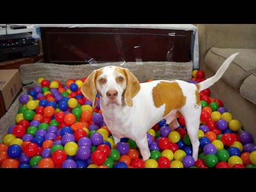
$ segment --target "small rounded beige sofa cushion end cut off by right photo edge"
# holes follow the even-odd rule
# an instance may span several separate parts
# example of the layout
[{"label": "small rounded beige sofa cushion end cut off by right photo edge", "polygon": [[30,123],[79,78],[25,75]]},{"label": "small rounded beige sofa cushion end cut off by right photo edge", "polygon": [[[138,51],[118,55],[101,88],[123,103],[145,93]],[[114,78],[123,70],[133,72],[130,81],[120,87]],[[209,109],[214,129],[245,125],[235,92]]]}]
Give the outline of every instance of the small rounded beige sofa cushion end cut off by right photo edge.
[{"label": "small rounded beige sofa cushion end cut off by right photo edge", "polygon": [[256,105],[256,73],[247,77],[240,87],[240,94]]}]

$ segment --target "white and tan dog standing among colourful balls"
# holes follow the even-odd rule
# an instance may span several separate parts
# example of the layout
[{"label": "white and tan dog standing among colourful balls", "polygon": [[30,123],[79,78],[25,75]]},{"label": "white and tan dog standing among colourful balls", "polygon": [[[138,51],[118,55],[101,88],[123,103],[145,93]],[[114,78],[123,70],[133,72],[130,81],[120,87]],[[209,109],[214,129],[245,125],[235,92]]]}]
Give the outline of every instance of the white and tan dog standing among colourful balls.
[{"label": "white and tan dog standing among colourful balls", "polygon": [[162,119],[175,129],[179,126],[177,117],[183,115],[196,161],[201,115],[199,92],[217,82],[237,54],[230,55],[214,76],[196,85],[180,80],[139,83],[129,69],[107,66],[93,70],[81,92],[92,101],[93,108],[97,106],[95,95],[99,93],[102,116],[115,144],[121,138],[134,140],[143,161],[150,157],[147,131]]}]

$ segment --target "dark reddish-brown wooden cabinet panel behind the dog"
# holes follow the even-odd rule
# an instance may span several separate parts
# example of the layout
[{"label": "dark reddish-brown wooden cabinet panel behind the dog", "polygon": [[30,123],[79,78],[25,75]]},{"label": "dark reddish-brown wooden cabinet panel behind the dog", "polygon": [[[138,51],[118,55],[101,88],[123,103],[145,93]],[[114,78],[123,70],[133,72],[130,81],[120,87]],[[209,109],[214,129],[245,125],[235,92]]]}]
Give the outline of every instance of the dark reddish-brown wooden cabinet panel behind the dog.
[{"label": "dark reddish-brown wooden cabinet panel behind the dog", "polygon": [[41,28],[44,62],[190,61],[190,30]]}]

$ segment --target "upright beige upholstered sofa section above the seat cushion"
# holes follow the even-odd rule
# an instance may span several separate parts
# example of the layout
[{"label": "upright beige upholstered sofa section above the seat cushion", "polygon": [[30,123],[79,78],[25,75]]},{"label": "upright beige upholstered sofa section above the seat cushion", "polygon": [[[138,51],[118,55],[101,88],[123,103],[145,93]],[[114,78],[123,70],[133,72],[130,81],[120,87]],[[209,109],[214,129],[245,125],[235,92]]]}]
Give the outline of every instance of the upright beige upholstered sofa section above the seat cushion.
[{"label": "upright beige upholstered sofa section above the seat cushion", "polygon": [[206,53],[213,46],[218,48],[256,48],[255,24],[198,24],[200,68]]}]

